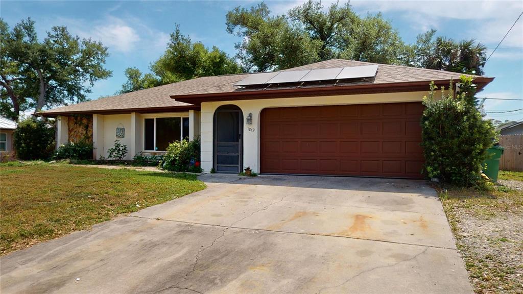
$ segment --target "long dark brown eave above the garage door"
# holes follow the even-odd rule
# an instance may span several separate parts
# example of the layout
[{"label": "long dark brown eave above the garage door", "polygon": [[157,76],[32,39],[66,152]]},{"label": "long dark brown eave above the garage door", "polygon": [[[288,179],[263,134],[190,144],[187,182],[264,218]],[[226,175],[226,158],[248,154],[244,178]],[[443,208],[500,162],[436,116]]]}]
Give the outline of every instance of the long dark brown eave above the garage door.
[{"label": "long dark brown eave above the garage door", "polygon": [[[477,92],[481,91],[488,83],[494,80],[493,77],[476,77],[474,83],[477,85]],[[448,86],[448,80],[434,81],[436,86]],[[457,83],[457,80],[453,80]],[[356,95],[356,94],[376,94],[376,93],[399,93],[413,91],[428,91],[431,81],[416,81],[404,83],[383,83],[365,84],[350,86],[328,86],[314,88],[292,88],[292,89],[269,89],[259,91],[238,91],[209,94],[188,94],[171,95],[170,98],[176,101],[200,105],[202,102],[229,101],[229,100],[250,100],[250,99],[269,99],[269,98],[292,98],[310,96],[333,96],[333,95]]]}]

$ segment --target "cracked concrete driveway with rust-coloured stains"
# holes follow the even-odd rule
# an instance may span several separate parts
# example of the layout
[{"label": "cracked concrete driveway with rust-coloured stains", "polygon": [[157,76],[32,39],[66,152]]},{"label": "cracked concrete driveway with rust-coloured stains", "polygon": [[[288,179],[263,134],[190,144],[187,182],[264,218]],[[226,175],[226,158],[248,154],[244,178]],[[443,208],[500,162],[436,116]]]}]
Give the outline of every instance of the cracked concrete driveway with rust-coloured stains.
[{"label": "cracked concrete driveway with rust-coloured stains", "polygon": [[198,193],[2,257],[1,292],[472,292],[422,180],[201,179]]}]

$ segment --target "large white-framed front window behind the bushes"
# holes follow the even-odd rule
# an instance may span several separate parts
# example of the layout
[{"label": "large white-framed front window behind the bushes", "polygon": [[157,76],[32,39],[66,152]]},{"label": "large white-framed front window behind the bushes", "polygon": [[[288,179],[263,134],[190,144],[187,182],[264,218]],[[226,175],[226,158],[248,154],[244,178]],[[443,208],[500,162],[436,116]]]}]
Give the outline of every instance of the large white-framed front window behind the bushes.
[{"label": "large white-framed front window behind the bushes", "polygon": [[165,151],[169,143],[189,137],[188,117],[145,119],[144,149]]}]

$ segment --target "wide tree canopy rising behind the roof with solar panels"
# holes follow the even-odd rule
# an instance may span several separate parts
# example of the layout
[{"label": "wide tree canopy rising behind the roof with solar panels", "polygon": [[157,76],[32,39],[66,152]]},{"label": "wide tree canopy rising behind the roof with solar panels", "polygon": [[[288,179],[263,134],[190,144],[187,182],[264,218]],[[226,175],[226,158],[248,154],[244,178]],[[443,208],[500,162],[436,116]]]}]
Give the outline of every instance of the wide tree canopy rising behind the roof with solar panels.
[{"label": "wide tree canopy rising behind the roof with solar panels", "polygon": [[430,30],[406,44],[381,14],[357,15],[349,3],[319,1],[271,15],[261,2],[238,6],[226,15],[227,31],[242,38],[236,57],[246,72],[283,70],[312,62],[343,58],[483,74],[486,47],[474,40],[454,41]]}]

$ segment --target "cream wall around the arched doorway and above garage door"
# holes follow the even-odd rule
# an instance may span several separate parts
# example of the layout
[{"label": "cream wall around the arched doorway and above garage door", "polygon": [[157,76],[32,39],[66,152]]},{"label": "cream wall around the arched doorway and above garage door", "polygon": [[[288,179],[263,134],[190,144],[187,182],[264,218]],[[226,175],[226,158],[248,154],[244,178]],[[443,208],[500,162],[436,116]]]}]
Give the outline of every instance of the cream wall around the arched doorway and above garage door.
[{"label": "cream wall around the arched doorway and above garage door", "polygon": [[[213,167],[213,115],[214,111],[227,104],[240,107],[243,111],[243,165],[259,172],[259,115],[261,110],[268,107],[317,106],[317,105],[346,105],[370,103],[401,103],[422,101],[428,92],[383,93],[362,95],[340,95],[322,97],[276,98],[205,102],[201,104],[201,167],[210,172]],[[440,94],[436,94],[438,97]],[[253,114],[252,125],[245,124],[245,118]],[[247,131],[250,128],[250,131]]]}]

